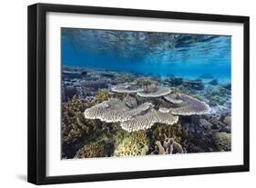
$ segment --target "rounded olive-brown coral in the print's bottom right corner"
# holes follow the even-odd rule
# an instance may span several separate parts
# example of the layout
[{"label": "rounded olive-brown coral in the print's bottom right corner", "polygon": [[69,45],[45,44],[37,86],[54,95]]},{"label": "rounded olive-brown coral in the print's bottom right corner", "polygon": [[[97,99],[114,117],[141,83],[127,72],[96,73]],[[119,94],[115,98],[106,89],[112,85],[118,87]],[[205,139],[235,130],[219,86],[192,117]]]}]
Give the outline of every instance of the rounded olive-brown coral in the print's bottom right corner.
[{"label": "rounded olive-brown coral in the print's bottom right corner", "polygon": [[213,134],[213,139],[219,151],[231,151],[231,134],[218,132]]}]

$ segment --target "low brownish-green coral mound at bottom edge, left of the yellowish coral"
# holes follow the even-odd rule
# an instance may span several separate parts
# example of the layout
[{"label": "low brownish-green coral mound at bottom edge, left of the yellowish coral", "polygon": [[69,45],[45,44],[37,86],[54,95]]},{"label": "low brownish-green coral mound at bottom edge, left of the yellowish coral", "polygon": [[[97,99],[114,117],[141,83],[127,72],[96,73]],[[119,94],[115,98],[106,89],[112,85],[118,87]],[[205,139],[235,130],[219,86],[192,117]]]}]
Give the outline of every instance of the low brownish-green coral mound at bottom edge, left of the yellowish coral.
[{"label": "low brownish-green coral mound at bottom edge, left of the yellowish coral", "polygon": [[107,157],[108,147],[104,142],[90,143],[80,148],[74,158]]}]

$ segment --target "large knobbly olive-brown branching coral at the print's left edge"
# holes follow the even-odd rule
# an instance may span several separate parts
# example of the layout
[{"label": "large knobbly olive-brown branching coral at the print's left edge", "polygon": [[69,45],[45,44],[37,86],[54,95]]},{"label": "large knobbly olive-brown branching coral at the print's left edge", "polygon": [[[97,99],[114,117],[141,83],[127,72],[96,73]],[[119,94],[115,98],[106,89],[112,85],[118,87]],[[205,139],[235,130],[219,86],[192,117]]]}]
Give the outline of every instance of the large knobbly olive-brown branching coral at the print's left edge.
[{"label": "large knobbly olive-brown branching coral at the print's left edge", "polygon": [[95,129],[95,122],[85,119],[85,109],[85,104],[77,95],[74,95],[71,101],[62,104],[62,143],[73,143],[84,133]]}]

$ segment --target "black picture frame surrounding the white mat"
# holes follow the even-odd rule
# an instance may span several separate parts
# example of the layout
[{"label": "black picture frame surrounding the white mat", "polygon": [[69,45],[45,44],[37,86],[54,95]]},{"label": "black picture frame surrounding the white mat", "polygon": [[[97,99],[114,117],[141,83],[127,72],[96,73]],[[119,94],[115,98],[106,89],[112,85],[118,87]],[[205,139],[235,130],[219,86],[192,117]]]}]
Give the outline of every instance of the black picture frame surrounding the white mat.
[{"label": "black picture frame surrounding the white mat", "polygon": [[[174,170],[126,173],[97,173],[67,176],[46,176],[46,13],[121,15],[177,20],[199,20],[243,24],[243,164]],[[250,18],[237,15],[207,15],[153,10],[94,7],[81,5],[36,4],[28,6],[28,158],[27,181],[35,184],[80,183],[93,181],[151,178],[204,173],[247,172],[250,169],[249,137],[249,29]]]}]

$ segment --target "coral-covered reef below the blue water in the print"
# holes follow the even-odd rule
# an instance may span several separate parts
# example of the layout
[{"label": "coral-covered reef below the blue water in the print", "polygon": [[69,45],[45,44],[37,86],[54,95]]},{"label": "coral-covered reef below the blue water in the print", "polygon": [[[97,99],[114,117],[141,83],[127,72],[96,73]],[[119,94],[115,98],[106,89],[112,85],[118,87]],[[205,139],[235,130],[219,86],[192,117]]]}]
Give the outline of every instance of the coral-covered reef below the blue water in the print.
[{"label": "coral-covered reef below the blue water in the print", "polygon": [[230,82],[63,66],[61,92],[62,159],[231,150]]}]

